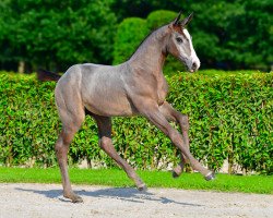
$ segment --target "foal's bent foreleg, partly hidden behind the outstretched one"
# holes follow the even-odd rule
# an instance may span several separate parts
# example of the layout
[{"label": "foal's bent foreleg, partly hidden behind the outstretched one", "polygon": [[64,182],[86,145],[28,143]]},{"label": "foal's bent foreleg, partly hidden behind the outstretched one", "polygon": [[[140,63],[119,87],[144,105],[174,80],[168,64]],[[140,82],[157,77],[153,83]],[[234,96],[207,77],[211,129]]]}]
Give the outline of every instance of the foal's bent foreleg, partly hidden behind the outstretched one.
[{"label": "foal's bent foreleg, partly hidden behind the outstretched one", "polygon": [[[174,109],[171,105],[169,105],[167,101],[165,101],[162,106],[159,106],[159,111],[164,114],[164,117],[168,121],[175,121],[180,125],[181,132],[182,132],[182,140],[185,147],[190,149],[190,143],[189,143],[189,118],[188,116],[185,116]],[[183,167],[187,164],[187,157],[183,154],[180,154],[181,161],[178,164],[176,168],[173,170],[173,177],[177,178],[179,177],[182,171]]]}]

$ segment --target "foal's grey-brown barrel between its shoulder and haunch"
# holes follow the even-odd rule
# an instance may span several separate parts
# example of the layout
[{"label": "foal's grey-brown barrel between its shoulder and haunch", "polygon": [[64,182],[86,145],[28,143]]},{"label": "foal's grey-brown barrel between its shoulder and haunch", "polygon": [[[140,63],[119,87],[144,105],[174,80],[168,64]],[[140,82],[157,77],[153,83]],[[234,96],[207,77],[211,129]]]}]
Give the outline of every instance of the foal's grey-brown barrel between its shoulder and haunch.
[{"label": "foal's grey-brown barrel between its shoulder and haunch", "polygon": [[121,74],[100,68],[83,74],[81,93],[87,110],[93,113],[111,116],[133,116]]}]

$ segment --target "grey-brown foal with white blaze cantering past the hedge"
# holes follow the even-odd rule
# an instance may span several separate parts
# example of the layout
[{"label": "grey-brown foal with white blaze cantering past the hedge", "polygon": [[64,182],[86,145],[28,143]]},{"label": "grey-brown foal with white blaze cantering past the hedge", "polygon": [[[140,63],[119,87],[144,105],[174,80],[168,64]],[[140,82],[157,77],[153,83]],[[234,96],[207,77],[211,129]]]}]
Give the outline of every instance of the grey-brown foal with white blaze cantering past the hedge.
[{"label": "grey-brown foal with white blaze cantering past the hedge", "polygon": [[[145,184],[114,148],[111,117],[143,116],[162,130],[181,152],[181,162],[174,169],[174,177],[179,177],[185,162],[189,160],[192,168],[206,180],[214,178],[213,172],[202,167],[189,150],[188,117],[165,100],[168,85],[163,75],[163,65],[168,53],[183,62],[190,72],[195,72],[200,66],[191,36],[186,29],[192,14],[182,21],[180,15],[154,31],[124,63],[115,66],[76,64],[58,81],[55,94],[62,130],[56,143],[56,153],[63,196],[73,203],[82,202],[82,198],[70,184],[68,150],[85,114],[97,122],[99,146],[123,168],[140,191],[146,189]],[[168,121],[176,121],[180,125],[182,136]]]}]

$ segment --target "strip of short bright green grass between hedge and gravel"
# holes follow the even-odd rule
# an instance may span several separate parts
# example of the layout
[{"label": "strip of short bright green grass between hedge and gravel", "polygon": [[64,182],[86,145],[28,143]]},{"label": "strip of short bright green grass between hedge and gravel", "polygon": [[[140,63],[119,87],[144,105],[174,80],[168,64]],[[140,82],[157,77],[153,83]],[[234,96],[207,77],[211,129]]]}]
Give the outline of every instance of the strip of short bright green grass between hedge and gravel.
[{"label": "strip of short bright green grass between hedge and gravel", "polygon": [[[183,190],[210,190],[221,192],[244,192],[273,194],[273,175],[216,174],[216,180],[206,182],[200,173],[183,173],[173,179],[170,172],[138,171],[149,187],[173,187]],[[119,169],[70,169],[73,184],[134,186]],[[2,183],[60,183],[59,169],[4,168],[0,167]]]}]

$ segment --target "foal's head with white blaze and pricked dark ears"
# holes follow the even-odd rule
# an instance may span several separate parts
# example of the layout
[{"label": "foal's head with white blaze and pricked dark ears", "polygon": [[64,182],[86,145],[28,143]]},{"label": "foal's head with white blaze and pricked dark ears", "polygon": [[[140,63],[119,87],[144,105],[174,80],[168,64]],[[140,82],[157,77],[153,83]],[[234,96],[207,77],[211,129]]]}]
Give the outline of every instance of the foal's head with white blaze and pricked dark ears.
[{"label": "foal's head with white blaze and pricked dark ears", "polygon": [[187,24],[192,19],[192,14],[182,21],[179,21],[180,16],[181,12],[178,14],[177,19],[168,25],[170,37],[167,45],[167,51],[182,61],[188,70],[193,73],[200,68],[200,60],[193,49],[192,38],[186,29]]}]

